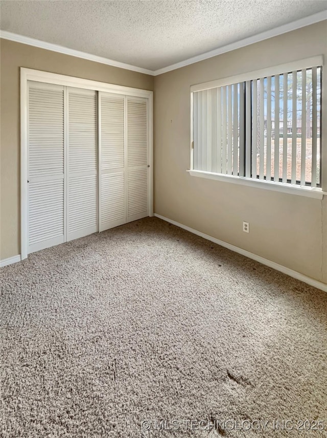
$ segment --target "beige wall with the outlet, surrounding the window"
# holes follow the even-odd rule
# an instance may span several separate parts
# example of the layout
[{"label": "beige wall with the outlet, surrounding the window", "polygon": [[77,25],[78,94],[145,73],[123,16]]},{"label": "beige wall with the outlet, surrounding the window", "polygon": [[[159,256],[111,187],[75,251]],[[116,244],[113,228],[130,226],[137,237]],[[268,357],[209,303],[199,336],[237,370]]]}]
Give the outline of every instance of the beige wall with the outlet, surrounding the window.
[{"label": "beige wall with the outlet, surrounding the window", "polygon": [[[327,283],[327,196],[323,201],[191,177],[190,85],[292,60],[327,57],[326,23],[308,26],[155,77],[157,214]],[[323,120],[327,115],[323,75]],[[327,190],[327,123],[323,123]],[[242,221],[250,232],[242,231]]]}]

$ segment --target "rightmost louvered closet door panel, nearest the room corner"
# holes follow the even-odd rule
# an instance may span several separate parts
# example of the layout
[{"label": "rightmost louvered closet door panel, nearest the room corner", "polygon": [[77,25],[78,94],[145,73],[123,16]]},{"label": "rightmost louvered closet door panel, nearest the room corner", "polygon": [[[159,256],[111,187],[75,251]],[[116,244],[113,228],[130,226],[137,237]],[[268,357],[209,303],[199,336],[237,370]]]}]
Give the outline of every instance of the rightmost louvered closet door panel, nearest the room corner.
[{"label": "rightmost louvered closet door panel, nearest the room corner", "polygon": [[148,99],[127,97],[127,222],[149,215]]}]

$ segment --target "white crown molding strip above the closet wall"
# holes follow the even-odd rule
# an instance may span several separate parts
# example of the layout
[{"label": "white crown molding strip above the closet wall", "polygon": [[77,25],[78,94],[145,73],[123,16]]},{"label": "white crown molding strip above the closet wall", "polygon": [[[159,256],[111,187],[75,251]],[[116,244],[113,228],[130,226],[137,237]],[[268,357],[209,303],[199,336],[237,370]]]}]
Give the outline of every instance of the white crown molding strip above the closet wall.
[{"label": "white crown molding strip above the closet wall", "polygon": [[63,53],[64,55],[76,56],[77,58],[87,59],[88,61],[100,62],[101,64],[111,65],[111,67],[118,67],[119,69],[131,70],[133,72],[144,73],[153,76],[153,71],[136,67],[136,65],[125,64],[124,62],[114,61],[113,59],[103,58],[102,56],[92,55],[90,53],[80,52],[79,50],[69,49],[68,47],[59,46],[51,42],[41,41],[39,39],[30,38],[24,35],[7,32],[2,30],[0,37],[9,39],[10,41],[21,42],[28,46],[38,47],[40,49],[51,50],[52,52]]}]

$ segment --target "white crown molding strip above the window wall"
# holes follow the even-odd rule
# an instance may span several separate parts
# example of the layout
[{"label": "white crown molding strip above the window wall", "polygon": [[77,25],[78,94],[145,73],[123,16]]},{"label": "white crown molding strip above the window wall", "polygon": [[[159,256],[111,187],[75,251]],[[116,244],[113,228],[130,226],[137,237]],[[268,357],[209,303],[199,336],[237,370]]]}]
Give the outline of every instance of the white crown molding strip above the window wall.
[{"label": "white crown molding strip above the window wall", "polygon": [[217,49],[211,50],[210,52],[202,53],[198,56],[193,56],[192,58],[185,59],[184,61],[177,62],[176,64],[168,65],[159,70],[153,72],[154,76],[161,75],[162,73],[167,73],[172,70],[180,69],[185,67],[185,65],[194,64],[195,62],[203,61],[204,59],[212,58],[222,53],[230,52],[232,50],[240,49],[241,47],[249,46],[255,42],[260,42],[273,36],[282,35],[283,33],[291,32],[292,30],[299,29],[301,27],[310,26],[318,21],[323,21],[327,19],[327,11],[318,12],[316,14],[310,15],[305,18],[300,18],[299,20],[292,21],[283,26],[278,26],[274,29],[267,30],[265,32],[258,33],[256,35],[250,36],[248,38],[240,39],[239,41],[232,42],[226,46],[219,47]]}]

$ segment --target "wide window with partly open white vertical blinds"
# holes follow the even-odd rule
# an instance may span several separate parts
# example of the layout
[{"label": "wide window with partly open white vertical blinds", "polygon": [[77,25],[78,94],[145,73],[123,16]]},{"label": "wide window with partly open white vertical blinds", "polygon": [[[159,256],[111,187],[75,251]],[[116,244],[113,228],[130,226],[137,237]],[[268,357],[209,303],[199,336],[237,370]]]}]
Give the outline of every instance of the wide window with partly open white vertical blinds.
[{"label": "wide window with partly open white vertical blinds", "polygon": [[193,171],[321,187],[322,57],[193,85]]}]

